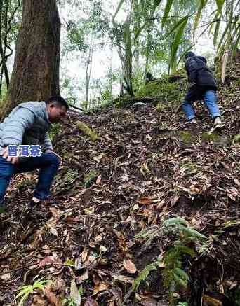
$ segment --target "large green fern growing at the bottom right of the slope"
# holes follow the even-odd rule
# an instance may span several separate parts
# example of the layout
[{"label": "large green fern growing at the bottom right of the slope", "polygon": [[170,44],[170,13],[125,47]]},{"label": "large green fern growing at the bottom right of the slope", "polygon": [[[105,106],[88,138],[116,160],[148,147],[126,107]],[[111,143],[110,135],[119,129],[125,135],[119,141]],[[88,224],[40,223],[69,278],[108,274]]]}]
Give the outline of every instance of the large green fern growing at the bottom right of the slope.
[{"label": "large green fern growing at the bottom right of the slope", "polygon": [[[195,244],[203,245],[206,243],[207,237],[202,235],[194,228],[189,226],[189,223],[183,218],[170,218],[164,221],[163,225],[154,225],[150,228],[142,230],[136,238],[142,238],[147,240],[144,246],[149,246],[155,237],[161,237],[164,235],[173,235],[175,242],[173,246],[166,251],[163,263],[164,263],[164,286],[169,292],[169,301],[171,305],[174,305],[175,301],[173,293],[180,290],[180,288],[187,288],[189,282],[189,276],[182,268],[182,259],[184,256],[194,257],[196,253],[194,251]],[[149,272],[155,270],[159,266],[159,261],[147,265],[142,272],[140,272],[137,279],[135,279],[131,292],[138,290],[140,282],[145,280],[149,275]],[[187,304],[179,304],[187,305]]]}]

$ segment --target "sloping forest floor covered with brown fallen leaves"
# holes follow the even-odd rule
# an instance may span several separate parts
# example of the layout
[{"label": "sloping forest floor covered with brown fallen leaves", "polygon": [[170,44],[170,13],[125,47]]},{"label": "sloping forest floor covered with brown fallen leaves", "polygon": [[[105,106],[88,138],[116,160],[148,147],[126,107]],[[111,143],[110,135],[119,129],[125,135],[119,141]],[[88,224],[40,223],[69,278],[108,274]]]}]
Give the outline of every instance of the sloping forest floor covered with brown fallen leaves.
[{"label": "sloping forest floor covered with brown fallen leaves", "polygon": [[[58,306],[70,295],[76,304],[66,305],[80,305],[75,284],[81,305],[121,305],[140,271],[173,243],[159,235],[142,247],[136,235],[173,216],[209,239],[206,256],[185,267],[191,281],[180,300],[204,305],[193,298],[200,290],[212,298],[205,305],[240,305],[239,62],[218,93],[221,134],[208,135],[212,123],[201,103],[197,127],[185,125],[171,103],[161,111],[146,104],[89,116],[69,112],[55,135],[62,165],[51,199],[25,208],[36,173],[15,176],[8,190],[8,213],[0,216],[0,305],[18,305],[18,288],[39,278],[53,282],[25,305]],[[79,131],[79,120],[98,141]],[[124,305],[168,305],[162,270],[151,272]]]}]

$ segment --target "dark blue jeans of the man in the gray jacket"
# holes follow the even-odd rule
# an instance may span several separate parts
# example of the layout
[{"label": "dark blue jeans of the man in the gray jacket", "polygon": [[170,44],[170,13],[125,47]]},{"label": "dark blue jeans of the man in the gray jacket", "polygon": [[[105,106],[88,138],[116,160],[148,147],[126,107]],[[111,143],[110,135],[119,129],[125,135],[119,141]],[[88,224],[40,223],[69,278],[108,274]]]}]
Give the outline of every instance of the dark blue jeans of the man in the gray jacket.
[{"label": "dark blue jeans of the man in the gray jacket", "polygon": [[39,171],[39,181],[34,190],[34,197],[44,200],[50,193],[55,174],[58,172],[60,159],[53,153],[42,153],[41,156],[29,158],[26,162],[11,164],[0,156],[0,203],[4,200],[11,177],[16,173]]}]

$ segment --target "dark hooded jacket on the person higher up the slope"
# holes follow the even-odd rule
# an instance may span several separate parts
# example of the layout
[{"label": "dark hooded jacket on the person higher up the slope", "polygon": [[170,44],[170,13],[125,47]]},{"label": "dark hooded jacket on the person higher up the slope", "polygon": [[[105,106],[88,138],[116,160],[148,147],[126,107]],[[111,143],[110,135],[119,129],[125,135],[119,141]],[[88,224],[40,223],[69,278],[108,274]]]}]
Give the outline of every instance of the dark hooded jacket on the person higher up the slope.
[{"label": "dark hooded jacket on the person higher up the slope", "polygon": [[190,83],[196,83],[198,86],[207,86],[217,89],[217,83],[213,76],[213,71],[206,65],[207,61],[202,56],[187,57],[185,69],[187,70]]}]

